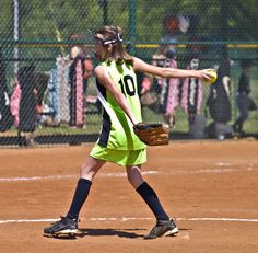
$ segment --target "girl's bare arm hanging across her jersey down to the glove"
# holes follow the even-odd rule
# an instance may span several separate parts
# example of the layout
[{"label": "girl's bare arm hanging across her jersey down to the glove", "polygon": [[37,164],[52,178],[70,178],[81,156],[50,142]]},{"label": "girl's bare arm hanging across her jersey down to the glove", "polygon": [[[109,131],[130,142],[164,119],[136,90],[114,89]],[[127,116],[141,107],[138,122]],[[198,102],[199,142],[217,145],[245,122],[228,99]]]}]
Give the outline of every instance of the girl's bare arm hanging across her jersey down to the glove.
[{"label": "girl's bare arm hanging across her jersey down to the glove", "polygon": [[139,122],[132,115],[131,108],[130,108],[125,95],[113,83],[113,80],[109,77],[106,69],[102,66],[97,66],[94,70],[94,72],[95,72],[98,81],[114,95],[116,102],[122,108],[122,111],[126,113],[126,115],[130,118],[132,125],[137,125]]}]

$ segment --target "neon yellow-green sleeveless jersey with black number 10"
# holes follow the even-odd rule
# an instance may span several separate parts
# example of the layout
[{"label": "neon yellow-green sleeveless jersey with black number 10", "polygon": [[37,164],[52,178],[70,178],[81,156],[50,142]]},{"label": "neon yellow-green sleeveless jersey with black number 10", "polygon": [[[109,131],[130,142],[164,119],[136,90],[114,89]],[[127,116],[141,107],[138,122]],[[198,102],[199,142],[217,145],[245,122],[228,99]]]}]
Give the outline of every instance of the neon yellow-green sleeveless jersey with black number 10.
[{"label": "neon yellow-green sleeveless jersey with black number 10", "polygon": [[[114,85],[126,96],[132,114],[138,122],[142,122],[141,104],[138,95],[137,77],[131,65],[102,62],[109,73]],[[132,123],[117,104],[114,96],[98,80],[97,96],[103,105],[103,126],[97,143],[108,149],[139,150],[146,146],[133,133]]]}]

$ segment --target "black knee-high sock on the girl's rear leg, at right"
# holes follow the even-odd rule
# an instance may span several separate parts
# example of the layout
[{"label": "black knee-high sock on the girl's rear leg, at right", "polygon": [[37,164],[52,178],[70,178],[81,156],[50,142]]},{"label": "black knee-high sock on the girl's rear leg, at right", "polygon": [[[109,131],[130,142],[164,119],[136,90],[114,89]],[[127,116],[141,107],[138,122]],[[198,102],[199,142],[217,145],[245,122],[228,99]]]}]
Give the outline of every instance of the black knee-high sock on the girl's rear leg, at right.
[{"label": "black knee-high sock on the girl's rear leg, at right", "polygon": [[141,195],[143,200],[151,208],[152,212],[154,214],[157,220],[169,220],[169,217],[163,209],[155,192],[146,182],[142,183],[137,188],[137,192]]}]

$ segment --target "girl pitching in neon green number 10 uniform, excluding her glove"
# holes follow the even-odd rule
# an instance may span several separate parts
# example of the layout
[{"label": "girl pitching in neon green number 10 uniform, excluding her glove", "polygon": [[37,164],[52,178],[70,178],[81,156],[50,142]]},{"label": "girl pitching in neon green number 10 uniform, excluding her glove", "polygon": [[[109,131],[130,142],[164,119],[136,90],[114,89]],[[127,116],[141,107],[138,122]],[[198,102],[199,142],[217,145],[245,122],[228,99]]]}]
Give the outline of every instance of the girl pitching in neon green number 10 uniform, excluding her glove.
[{"label": "girl pitching in neon green number 10 uniform, excluding her glove", "polygon": [[146,147],[133,133],[133,125],[142,122],[136,71],[162,78],[211,79],[208,70],[161,68],[126,53],[122,31],[104,26],[94,33],[99,65],[95,67],[97,95],[103,105],[99,138],[81,168],[70,209],[66,217],[45,228],[46,234],[75,233],[79,212],[85,203],[92,181],[106,162],[126,166],[128,181],[150,207],[156,223],[144,239],[173,235],[178,232],[153,188],[143,180],[141,164],[146,162]]}]

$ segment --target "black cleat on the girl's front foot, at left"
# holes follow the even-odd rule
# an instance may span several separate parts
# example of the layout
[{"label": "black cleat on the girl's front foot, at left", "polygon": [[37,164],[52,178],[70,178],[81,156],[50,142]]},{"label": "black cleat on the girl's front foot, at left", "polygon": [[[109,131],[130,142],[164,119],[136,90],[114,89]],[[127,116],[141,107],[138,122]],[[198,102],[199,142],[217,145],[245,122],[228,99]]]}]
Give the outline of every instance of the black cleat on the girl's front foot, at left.
[{"label": "black cleat on the girl's front foot, at left", "polygon": [[48,235],[75,234],[78,232],[78,220],[61,217],[51,227],[45,228],[44,233]]}]

